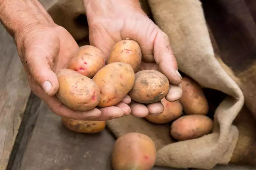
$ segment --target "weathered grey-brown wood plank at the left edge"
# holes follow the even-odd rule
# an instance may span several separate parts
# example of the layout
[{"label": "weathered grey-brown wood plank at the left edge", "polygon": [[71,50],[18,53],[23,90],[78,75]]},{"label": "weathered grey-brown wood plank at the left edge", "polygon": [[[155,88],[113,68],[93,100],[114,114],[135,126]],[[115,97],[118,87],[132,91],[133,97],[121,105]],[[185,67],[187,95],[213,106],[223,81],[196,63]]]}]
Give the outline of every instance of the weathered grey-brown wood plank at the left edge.
[{"label": "weathered grey-brown wood plank at the left edge", "polygon": [[30,88],[15,43],[2,25],[0,82],[0,170],[4,170],[19,130]]}]

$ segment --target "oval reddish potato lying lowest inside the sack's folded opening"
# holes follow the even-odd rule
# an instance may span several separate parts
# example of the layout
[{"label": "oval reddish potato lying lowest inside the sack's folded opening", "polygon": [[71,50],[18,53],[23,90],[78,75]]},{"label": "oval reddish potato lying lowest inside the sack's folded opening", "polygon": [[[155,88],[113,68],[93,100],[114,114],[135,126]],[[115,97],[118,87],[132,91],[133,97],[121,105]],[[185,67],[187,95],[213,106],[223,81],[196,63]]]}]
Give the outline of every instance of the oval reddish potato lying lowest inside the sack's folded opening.
[{"label": "oval reddish potato lying lowest inside the sack's folded opening", "polygon": [[171,136],[179,141],[199,138],[209,134],[213,121],[204,115],[186,115],[175,120],[171,126]]}]

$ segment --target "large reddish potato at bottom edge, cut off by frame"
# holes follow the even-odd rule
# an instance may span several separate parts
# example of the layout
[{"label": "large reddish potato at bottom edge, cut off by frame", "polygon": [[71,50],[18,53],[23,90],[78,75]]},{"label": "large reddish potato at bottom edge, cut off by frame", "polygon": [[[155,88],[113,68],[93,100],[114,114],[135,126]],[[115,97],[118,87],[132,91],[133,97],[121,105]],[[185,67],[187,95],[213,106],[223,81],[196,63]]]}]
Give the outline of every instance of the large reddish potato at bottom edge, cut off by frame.
[{"label": "large reddish potato at bottom edge, cut off by frame", "polygon": [[155,144],[145,134],[127,133],[116,140],[112,152],[114,170],[150,170],[155,160]]}]

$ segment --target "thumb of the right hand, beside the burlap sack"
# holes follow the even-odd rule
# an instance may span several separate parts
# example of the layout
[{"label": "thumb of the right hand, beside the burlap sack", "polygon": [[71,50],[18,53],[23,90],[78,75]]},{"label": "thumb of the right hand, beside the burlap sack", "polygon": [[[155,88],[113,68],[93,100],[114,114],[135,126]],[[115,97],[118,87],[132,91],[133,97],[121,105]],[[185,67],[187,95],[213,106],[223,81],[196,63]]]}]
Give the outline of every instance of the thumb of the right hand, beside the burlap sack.
[{"label": "thumb of the right hand, beside the burlap sack", "polygon": [[163,31],[159,30],[154,41],[154,59],[159,70],[168,78],[169,82],[178,85],[182,81],[178,71],[170,40]]}]

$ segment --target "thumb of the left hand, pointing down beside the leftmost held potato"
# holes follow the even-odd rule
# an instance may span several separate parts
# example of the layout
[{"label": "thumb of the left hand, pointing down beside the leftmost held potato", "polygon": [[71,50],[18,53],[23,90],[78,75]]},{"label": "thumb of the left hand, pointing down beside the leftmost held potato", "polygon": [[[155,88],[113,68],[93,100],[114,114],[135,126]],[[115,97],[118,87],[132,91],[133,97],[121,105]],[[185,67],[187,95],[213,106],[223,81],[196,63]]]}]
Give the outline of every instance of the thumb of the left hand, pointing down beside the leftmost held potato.
[{"label": "thumb of the left hand, pointing down beside the leftmost held potato", "polygon": [[48,54],[42,56],[42,54],[38,54],[37,50],[32,50],[26,56],[26,67],[31,77],[49,96],[55,95],[59,88],[58,78],[49,65],[52,64],[51,59],[49,59],[52,58],[49,57],[52,55],[54,54],[48,51]]}]

